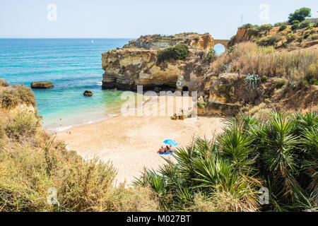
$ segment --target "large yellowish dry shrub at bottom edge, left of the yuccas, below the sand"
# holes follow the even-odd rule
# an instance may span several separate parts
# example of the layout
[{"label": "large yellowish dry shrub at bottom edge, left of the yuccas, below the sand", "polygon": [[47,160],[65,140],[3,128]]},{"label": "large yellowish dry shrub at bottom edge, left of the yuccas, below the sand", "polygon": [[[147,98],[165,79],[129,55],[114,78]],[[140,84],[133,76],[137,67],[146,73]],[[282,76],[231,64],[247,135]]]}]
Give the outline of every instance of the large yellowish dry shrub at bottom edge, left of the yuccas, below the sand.
[{"label": "large yellowish dry shrub at bottom edge, left of the yuccas, below the sand", "polygon": [[[57,156],[58,157],[58,156]],[[53,159],[54,160],[54,159]],[[116,170],[110,162],[98,159],[84,161],[77,155],[71,156],[68,164],[47,160],[49,174],[55,174],[54,181],[62,210],[66,211],[112,211],[112,182]],[[54,161],[53,161],[54,162]],[[63,170],[61,170],[63,169]]]}]

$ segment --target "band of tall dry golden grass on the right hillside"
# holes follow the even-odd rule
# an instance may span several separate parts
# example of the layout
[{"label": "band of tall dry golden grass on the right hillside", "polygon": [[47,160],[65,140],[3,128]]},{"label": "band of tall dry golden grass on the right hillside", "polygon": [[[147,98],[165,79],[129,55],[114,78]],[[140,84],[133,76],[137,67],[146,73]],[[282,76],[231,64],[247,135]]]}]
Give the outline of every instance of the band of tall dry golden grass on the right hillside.
[{"label": "band of tall dry golden grass on the right hillside", "polygon": [[226,64],[228,72],[255,73],[290,81],[303,81],[309,74],[312,78],[318,78],[318,54],[313,49],[278,52],[273,47],[243,42],[237,44],[232,52],[218,57],[211,65],[212,72],[222,73]]}]

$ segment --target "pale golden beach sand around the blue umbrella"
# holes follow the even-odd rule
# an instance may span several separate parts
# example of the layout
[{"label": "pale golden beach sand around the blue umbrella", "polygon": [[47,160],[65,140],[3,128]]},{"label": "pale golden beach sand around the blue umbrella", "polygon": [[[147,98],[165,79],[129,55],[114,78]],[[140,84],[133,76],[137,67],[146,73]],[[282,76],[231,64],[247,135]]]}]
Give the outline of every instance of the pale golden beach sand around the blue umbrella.
[{"label": "pale golden beach sand around the blue umbrella", "polygon": [[[161,98],[161,97],[160,97]],[[165,107],[173,107],[167,104]],[[150,107],[136,110],[136,113]],[[160,109],[160,107],[158,107]],[[182,147],[192,143],[194,137],[212,138],[222,130],[224,117],[198,117],[172,120],[170,116],[127,116],[121,114],[94,124],[78,126],[57,133],[69,150],[76,150],[85,158],[99,157],[112,161],[118,170],[117,183],[131,184],[143,168],[158,169],[165,163],[157,151],[163,141],[172,139]]]}]

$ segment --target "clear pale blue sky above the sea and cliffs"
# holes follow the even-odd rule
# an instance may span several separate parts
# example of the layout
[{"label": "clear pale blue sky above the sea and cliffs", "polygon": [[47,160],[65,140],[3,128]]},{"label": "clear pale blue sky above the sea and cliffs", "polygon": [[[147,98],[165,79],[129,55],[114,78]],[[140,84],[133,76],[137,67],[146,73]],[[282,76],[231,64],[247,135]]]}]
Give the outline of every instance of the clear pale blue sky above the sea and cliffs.
[{"label": "clear pale blue sky above the sea and cliffs", "polygon": [[[49,21],[47,6],[57,6]],[[259,6],[269,6],[261,20]],[[1,0],[0,37],[139,37],[179,32],[209,32],[229,39],[243,23],[285,21],[301,7],[318,17],[317,0]]]}]

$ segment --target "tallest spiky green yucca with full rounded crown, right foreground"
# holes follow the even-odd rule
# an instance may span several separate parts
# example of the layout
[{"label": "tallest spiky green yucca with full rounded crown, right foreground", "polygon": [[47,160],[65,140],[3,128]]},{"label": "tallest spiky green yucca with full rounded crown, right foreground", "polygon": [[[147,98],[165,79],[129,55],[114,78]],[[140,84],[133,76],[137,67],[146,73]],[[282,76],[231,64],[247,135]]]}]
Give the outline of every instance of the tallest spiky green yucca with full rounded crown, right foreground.
[{"label": "tallest spiky green yucca with full rounded crown, right foreground", "polygon": [[256,148],[261,153],[263,177],[269,178],[277,201],[285,204],[307,203],[305,191],[298,182],[300,138],[295,135],[295,119],[273,112],[271,119],[259,127]]}]

